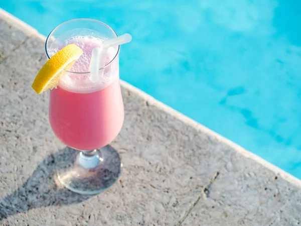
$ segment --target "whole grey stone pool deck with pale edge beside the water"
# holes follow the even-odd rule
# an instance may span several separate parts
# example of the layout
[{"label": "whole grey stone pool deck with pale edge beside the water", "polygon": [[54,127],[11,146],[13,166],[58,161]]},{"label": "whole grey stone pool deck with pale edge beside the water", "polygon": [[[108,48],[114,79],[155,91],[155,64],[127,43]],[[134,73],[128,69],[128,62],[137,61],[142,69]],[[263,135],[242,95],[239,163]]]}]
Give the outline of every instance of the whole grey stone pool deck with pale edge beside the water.
[{"label": "whole grey stone pool deck with pale edge beside the water", "polygon": [[44,42],[0,11],[2,225],[301,224],[298,179],[124,82],[119,182],[95,196],[61,188],[53,168],[72,153],[49,126],[48,93],[30,88]]}]

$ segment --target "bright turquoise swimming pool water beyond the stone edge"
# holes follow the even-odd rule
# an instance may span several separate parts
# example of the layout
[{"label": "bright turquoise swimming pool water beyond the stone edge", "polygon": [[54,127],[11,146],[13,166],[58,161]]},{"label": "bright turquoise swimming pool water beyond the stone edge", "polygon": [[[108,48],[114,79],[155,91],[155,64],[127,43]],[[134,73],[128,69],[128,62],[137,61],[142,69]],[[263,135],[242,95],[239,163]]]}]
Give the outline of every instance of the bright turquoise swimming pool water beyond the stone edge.
[{"label": "bright turquoise swimming pool water beyond the stone edge", "polygon": [[93,18],[117,34],[120,77],[301,178],[301,1],[1,1],[40,33]]}]

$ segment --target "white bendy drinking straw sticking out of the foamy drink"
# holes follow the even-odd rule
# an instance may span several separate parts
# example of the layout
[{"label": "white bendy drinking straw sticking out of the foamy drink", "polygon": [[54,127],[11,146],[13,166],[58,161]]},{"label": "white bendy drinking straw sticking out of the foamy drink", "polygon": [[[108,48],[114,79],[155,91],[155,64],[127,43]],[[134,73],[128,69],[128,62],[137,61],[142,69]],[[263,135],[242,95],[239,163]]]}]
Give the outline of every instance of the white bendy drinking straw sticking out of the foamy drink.
[{"label": "white bendy drinking straw sticking out of the foamy drink", "polygon": [[105,66],[108,49],[112,46],[121,45],[131,41],[130,34],[124,34],[119,37],[105,40],[101,43],[101,47],[95,47],[92,50],[90,62],[90,81],[97,82],[103,75],[104,70],[99,70]]}]

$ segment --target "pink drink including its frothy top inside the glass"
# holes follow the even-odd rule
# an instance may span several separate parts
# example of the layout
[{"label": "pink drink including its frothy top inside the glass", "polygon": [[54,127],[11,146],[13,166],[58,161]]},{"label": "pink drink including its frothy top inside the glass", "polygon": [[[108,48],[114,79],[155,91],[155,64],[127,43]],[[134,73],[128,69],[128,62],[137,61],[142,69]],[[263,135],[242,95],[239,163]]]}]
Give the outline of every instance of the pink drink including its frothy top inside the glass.
[{"label": "pink drink including its frothy top inside the glass", "polygon": [[[100,46],[101,40],[76,37],[67,40],[64,46],[71,43],[84,51],[71,71],[89,71],[92,49]],[[111,49],[107,63],[114,56]],[[114,140],[124,120],[118,60],[106,67],[97,83],[89,81],[89,73],[67,72],[57,89],[50,91],[49,119],[55,135],[74,149],[98,149]]]}]

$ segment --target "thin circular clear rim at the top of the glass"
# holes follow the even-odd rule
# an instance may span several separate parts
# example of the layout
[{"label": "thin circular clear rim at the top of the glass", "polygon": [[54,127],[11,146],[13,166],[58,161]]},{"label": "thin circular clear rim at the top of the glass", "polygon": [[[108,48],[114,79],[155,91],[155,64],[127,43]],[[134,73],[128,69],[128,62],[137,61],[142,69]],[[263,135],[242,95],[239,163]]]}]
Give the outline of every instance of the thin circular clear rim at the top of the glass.
[{"label": "thin circular clear rim at the top of the glass", "polygon": [[[110,26],[108,26],[107,24],[105,24],[105,23],[103,23],[103,22],[101,22],[101,21],[94,20],[94,19],[88,19],[88,18],[79,18],[79,19],[69,20],[69,21],[66,21],[66,22],[64,22],[64,23],[62,23],[62,24],[60,24],[60,25],[58,25],[57,27],[55,27],[55,28],[49,33],[49,35],[47,36],[47,39],[46,39],[46,42],[45,42],[45,52],[46,52],[46,56],[47,56],[48,59],[50,59],[50,57],[49,57],[49,54],[48,54],[48,51],[47,51],[47,44],[48,44],[48,41],[49,41],[51,35],[54,33],[54,31],[55,31],[56,29],[60,28],[61,26],[65,25],[65,24],[67,24],[67,23],[73,22],[73,21],[92,21],[92,22],[100,23],[100,24],[104,25],[105,27],[107,27],[110,31],[112,31],[112,32],[116,35],[116,37],[118,37],[118,35],[116,34],[116,32],[115,32]],[[113,59],[112,59],[108,64],[106,64],[105,66],[99,68],[99,71],[100,71],[100,70],[104,70],[106,67],[110,66],[111,63],[113,63],[113,61],[115,61],[115,59],[117,58],[117,56],[118,56],[118,54],[119,54],[119,50],[120,50],[120,45],[118,46],[117,52],[116,52],[115,56],[113,57]],[[90,73],[90,71],[87,71],[87,72],[75,72],[75,71],[69,71],[69,70],[66,70],[66,69],[63,69],[63,70],[64,70],[65,72],[73,73],[73,74],[88,74],[88,73]]]}]

